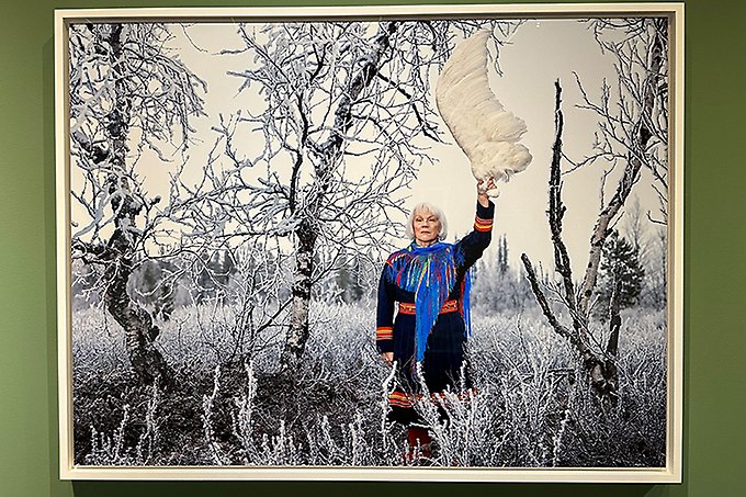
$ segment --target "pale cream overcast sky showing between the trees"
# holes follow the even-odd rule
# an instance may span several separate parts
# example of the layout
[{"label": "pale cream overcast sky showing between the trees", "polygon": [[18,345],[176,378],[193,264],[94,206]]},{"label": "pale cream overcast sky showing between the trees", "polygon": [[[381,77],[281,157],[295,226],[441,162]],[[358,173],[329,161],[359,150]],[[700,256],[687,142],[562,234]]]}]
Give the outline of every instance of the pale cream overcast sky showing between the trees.
[{"label": "pale cream overcast sky showing between the trees", "polygon": [[[230,114],[238,109],[250,108],[252,99],[256,99],[251,91],[237,94],[241,80],[226,75],[227,70],[245,68],[251,63],[251,57],[246,54],[215,55],[219,49],[241,46],[235,25],[197,24],[189,27],[194,45],[204,52],[188,43],[179,27],[172,31],[177,34],[174,45],[180,47],[180,58],[208,86],[205,95],[208,116],[194,123],[197,136],[205,137],[204,143],[190,150],[191,160],[199,167],[205,162],[212,146],[214,135],[210,127],[217,122],[218,113]],[[554,81],[558,78],[563,86],[564,151],[569,157],[580,159],[590,153],[596,117],[588,111],[574,108],[579,102],[579,91],[573,71],[579,75],[591,97],[598,95],[604,78],[613,81],[615,74],[612,58],[601,54],[591,33],[585,24],[577,21],[530,21],[518,30],[510,42],[500,52],[504,75],[494,75],[493,90],[507,110],[525,121],[528,133],[521,143],[530,149],[533,161],[527,171],[500,187],[501,194],[496,200],[495,234],[507,235],[513,268],[518,267],[521,252],[527,252],[535,263],[541,261],[549,268],[552,266],[552,247],[545,211],[554,138]],[[452,240],[454,235],[463,236],[471,229],[475,180],[467,158],[453,142],[434,146],[431,155],[438,158],[438,163],[420,171],[409,204],[427,200],[440,205],[449,218]],[[150,160],[154,161],[152,166],[149,165]],[[167,190],[159,190],[168,184],[168,168],[156,161],[155,157],[144,158],[142,166],[147,167],[146,188],[151,195],[165,195]],[[368,168],[364,163],[360,167]],[[565,177],[564,201],[568,208],[565,216],[565,241],[574,268],[584,268],[587,263],[588,239],[599,211],[599,185],[603,167],[604,165],[597,163]],[[74,189],[80,181],[79,178],[76,179],[76,172],[74,168]],[[644,210],[657,207],[649,181],[648,176],[643,176],[633,190],[633,195],[640,199]],[[75,208],[72,214],[75,217]]]}]

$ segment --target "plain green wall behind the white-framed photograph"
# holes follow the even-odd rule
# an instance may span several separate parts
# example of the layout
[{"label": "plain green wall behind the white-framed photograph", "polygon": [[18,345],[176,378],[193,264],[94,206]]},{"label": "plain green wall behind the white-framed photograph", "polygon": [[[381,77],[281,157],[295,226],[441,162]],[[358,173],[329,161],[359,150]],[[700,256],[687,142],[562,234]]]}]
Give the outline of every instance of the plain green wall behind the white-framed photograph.
[{"label": "plain green wall behind the white-framed photograph", "polygon": [[16,0],[0,10],[0,497],[306,492],[361,497],[455,492],[555,497],[743,495],[746,264],[741,252],[746,236],[741,228],[746,213],[739,202],[746,184],[746,99],[736,90],[744,87],[746,75],[746,7],[726,0],[686,2],[682,485],[60,482],[56,476],[53,9],[179,4],[237,3]]}]

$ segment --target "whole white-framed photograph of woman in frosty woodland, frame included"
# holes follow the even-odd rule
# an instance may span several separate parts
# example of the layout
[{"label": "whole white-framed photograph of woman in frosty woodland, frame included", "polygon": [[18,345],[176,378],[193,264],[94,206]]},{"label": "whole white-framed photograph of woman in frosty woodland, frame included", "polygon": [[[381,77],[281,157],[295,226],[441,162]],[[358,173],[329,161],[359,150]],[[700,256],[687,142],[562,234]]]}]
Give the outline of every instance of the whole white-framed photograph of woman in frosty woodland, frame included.
[{"label": "whole white-framed photograph of woman in frosty woodland, frame included", "polygon": [[55,50],[61,478],[681,481],[682,3]]}]

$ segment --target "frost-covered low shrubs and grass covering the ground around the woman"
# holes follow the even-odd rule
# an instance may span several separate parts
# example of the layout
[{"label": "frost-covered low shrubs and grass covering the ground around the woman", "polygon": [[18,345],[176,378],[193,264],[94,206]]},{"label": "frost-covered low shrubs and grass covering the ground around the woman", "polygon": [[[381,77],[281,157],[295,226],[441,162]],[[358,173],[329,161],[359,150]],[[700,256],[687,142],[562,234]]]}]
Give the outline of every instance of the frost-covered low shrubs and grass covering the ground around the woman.
[{"label": "frost-covered low shrubs and grass covering the ground around the woman", "polygon": [[[314,303],[297,370],[276,374],[278,337],[229,353],[228,310],[177,308],[162,323],[174,386],[132,386],[122,340],[80,315],[76,461],[82,464],[400,466],[404,429],[386,421],[392,369],[374,346],[374,302]],[[213,319],[227,319],[213,323]],[[206,319],[206,320],[205,320]],[[200,320],[205,320],[199,324]],[[199,325],[197,325],[199,324]],[[224,330],[224,331],[221,331]],[[665,462],[665,315],[624,315],[620,399],[599,403],[574,351],[538,313],[474,316],[476,393],[416,408],[434,466],[642,466]],[[118,357],[117,357],[118,354]],[[233,358],[233,359],[231,359]],[[105,373],[99,368],[110,368]],[[81,438],[82,434],[82,438]]]}]

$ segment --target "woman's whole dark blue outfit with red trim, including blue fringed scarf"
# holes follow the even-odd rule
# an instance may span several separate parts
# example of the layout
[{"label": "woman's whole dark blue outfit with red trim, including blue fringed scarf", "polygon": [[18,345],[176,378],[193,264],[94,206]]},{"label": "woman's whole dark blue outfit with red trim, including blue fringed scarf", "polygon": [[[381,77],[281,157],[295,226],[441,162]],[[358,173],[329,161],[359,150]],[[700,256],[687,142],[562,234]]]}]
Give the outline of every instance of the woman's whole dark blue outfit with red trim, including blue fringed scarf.
[{"label": "woman's whole dark blue outfit with red trim, including blue fringed scarf", "polygon": [[[468,269],[491,238],[495,205],[477,203],[474,230],[456,244],[438,242],[392,253],[378,283],[376,347],[394,352],[389,420],[421,422],[415,400],[427,393],[470,395],[465,344],[471,332]],[[396,314],[395,314],[396,310]]]}]

